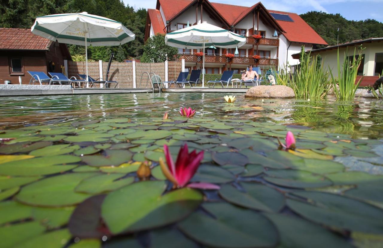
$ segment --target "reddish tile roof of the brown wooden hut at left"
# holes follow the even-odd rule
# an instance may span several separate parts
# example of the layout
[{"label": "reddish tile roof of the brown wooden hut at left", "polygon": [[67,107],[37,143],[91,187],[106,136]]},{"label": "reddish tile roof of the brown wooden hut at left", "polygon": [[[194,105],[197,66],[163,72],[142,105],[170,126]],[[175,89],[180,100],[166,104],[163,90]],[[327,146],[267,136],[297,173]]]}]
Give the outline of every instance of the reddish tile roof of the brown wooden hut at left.
[{"label": "reddish tile roof of the brown wooden hut at left", "polygon": [[26,28],[0,28],[0,49],[48,50],[51,40]]}]

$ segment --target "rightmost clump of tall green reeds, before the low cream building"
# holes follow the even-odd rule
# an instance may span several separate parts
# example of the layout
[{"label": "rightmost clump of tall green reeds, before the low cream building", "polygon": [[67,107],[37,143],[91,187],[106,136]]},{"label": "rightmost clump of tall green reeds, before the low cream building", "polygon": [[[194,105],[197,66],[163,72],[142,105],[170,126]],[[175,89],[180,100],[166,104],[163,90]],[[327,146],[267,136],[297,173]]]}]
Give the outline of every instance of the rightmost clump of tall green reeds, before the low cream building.
[{"label": "rightmost clump of tall green reeds, before the low cream building", "polygon": [[[329,72],[331,75],[331,82],[334,86],[334,93],[338,100],[353,100],[355,97],[355,92],[359,87],[360,82],[362,81],[361,77],[357,83],[355,83],[358,68],[360,63],[362,62],[362,51],[363,49],[359,47],[358,57],[356,57],[356,49],[354,49],[354,56],[352,57],[352,61],[350,61],[347,57],[347,50],[344,53],[344,59],[342,66],[340,65],[339,59],[339,49],[337,52],[337,68],[338,68],[338,78],[335,78],[332,74],[331,69],[329,68]],[[337,88],[339,86],[339,89]]]}]

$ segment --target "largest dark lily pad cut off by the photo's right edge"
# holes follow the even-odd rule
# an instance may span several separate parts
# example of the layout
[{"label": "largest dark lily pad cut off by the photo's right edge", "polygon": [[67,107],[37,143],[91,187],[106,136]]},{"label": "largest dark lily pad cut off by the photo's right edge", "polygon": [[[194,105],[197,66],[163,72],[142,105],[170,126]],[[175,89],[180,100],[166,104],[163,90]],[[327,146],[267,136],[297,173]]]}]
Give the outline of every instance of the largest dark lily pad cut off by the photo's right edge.
[{"label": "largest dark lily pad cut off by the photo's right edge", "polygon": [[344,230],[383,233],[383,210],[365,202],[324,192],[296,192],[309,202],[287,200],[294,212],[313,222]]}]

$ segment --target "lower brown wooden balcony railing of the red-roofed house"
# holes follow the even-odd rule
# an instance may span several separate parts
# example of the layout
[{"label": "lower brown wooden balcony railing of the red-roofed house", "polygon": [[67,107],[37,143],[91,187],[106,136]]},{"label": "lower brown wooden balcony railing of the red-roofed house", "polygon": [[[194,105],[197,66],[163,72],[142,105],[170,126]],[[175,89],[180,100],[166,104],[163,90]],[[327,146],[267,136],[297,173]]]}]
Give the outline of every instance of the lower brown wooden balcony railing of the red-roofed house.
[{"label": "lower brown wooden balcony railing of the red-roofed house", "polygon": [[[202,63],[202,56],[194,54],[180,54],[179,60],[185,59],[185,62]],[[236,64],[236,65],[249,65],[255,64],[252,56],[240,56],[234,57],[231,60],[223,55],[206,55],[205,63],[217,63],[217,64]],[[278,58],[261,57],[258,61],[258,65],[278,66]]]}]

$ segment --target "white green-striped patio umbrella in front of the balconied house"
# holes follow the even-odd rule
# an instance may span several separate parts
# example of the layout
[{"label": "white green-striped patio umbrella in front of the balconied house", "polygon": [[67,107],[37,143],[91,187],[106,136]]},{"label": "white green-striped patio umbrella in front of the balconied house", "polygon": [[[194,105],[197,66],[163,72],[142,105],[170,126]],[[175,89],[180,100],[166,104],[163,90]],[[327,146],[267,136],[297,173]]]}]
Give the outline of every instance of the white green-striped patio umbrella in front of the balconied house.
[{"label": "white green-striped patio umbrella in front of the balconied house", "polygon": [[[205,47],[234,48],[246,43],[246,37],[219,28],[206,21],[166,34],[165,43],[183,49],[204,49],[202,67],[205,69]],[[202,74],[204,87],[205,73]]]}]

